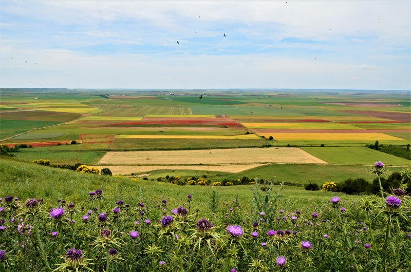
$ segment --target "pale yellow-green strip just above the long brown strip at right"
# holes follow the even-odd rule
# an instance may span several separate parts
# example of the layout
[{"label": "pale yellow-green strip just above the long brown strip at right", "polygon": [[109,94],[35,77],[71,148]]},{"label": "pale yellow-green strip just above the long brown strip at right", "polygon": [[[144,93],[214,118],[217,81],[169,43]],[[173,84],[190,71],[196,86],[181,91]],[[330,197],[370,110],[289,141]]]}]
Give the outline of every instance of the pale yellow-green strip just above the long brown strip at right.
[{"label": "pale yellow-green strip just above the long brown strip at right", "polygon": [[334,123],[241,123],[248,128],[270,129],[361,129],[349,124]]}]

